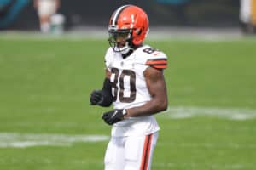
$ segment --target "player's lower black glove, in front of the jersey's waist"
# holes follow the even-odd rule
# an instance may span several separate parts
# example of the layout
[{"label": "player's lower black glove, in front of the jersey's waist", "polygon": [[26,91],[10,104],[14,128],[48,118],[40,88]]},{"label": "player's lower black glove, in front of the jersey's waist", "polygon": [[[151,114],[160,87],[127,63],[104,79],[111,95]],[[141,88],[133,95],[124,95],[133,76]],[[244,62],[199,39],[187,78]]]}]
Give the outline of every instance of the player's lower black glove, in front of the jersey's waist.
[{"label": "player's lower black glove, in front of the jersey's waist", "polygon": [[113,125],[113,123],[124,120],[126,114],[125,109],[115,109],[103,113],[102,119],[108,124]]}]

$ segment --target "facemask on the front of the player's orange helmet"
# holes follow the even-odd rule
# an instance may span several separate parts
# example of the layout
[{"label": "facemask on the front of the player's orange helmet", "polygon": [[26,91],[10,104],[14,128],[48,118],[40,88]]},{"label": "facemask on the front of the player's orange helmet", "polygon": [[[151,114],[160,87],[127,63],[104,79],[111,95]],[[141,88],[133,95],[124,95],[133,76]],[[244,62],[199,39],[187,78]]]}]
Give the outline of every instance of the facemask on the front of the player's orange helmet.
[{"label": "facemask on the front of the player's orange helmet", "polygon": [[116,30],[113,28],[108,29],[108,42],[113,51],[119,52],[121,54],[127,54],[132,48],[132,36],[131,30],[123,29]]}]

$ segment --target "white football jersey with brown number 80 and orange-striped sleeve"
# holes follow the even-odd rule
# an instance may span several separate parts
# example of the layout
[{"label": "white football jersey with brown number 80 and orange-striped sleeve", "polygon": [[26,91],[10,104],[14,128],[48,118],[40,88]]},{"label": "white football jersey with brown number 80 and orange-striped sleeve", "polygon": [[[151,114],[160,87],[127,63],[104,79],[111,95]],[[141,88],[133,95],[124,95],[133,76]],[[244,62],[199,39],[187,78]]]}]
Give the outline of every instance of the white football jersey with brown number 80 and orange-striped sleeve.
[{"label": "white football jersey with brown number 80 and orange-striped sleeve", "polygon": [[[167,57],[166,54],[148,45],[137,48],[125,59],[112,48],[108,48],[105,64],[111,72],[113,108],[129,109],[144,105],[151,99],[144,71],[149,66],[165,69]],[[159,130],[160,127],[154,116],[130,117],[113,124],[112,135],[147,135]]]}]

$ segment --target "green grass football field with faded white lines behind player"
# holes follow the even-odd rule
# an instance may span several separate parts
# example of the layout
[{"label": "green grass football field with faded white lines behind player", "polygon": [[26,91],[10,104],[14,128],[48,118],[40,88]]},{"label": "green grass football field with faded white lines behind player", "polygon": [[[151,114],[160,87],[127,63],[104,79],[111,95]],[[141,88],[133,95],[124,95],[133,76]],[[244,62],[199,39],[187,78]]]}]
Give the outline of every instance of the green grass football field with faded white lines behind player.
[{"label": "green grass football field with faded white lines behind player", "polygon": [[[256,169],[256,40],[147,43],[169,65],[152,169]],[[0,36],[0,169],[103,169],[108,108],[89,96],[107,48],[103,38]]]}]

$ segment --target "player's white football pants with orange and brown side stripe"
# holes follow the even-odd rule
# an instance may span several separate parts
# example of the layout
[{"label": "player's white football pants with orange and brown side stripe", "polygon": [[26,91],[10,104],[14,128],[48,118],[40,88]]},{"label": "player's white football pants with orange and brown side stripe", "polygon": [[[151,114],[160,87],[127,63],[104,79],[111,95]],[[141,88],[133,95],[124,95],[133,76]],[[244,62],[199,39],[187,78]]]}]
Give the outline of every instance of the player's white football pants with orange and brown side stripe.
[{"label": "player's white football pants with orange and brown side stripe", "polygon": [[147,136],[111,137],[105,170],[150,170],[158,132]]}]

